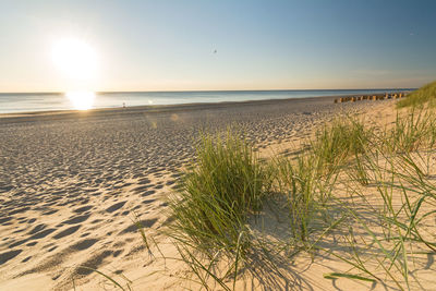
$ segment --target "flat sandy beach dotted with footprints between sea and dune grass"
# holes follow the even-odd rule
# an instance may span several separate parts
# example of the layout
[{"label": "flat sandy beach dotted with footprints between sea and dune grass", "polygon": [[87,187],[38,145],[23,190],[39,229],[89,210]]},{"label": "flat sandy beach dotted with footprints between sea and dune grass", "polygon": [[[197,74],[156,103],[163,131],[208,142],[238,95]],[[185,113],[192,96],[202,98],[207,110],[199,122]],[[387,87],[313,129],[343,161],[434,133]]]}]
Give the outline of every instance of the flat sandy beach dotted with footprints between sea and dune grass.
[{"label": "flat sandy beach dotted with footprints between sea and dune grass", "polygon": [[[393,102],[334,104],[323,97],[3,114],[0,289],[109,288],[101,276],[75,269],[84,265],[124,274],[135,290],[178,290],[183,267],[171,263],[173,271],[164,276],[165,263],[149,263],[133,219],[149,233],[165,227],[166,197],[201,132],[234,126],[267,157],[291,150],[338,114],[391,119]],[[174,253],[168,242],[161,247]],[[304,276],[311,279],[300,282],[303,290],[336,288],[319,282],[317,268]]]}]

